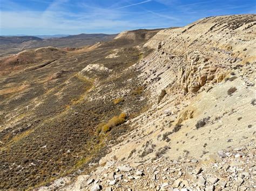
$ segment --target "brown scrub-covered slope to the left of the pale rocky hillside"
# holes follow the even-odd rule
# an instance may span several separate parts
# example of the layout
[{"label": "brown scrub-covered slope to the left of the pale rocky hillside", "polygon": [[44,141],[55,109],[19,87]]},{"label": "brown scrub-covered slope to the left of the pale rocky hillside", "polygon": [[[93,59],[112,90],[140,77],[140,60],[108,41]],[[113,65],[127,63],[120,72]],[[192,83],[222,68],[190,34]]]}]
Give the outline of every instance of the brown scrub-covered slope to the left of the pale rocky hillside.
[{"label": "brown scrub-covered slope to the left of the pale rocky hillside", "polygon": [[[151,50],[145,40],[122,42],[44,47],[0,60],[12,72],[0,77],[0,189],[38,187],[89,169],[130,131],[120,123],[145,110],[147,98],[138,72],[127,68]],[[111,124],[98,135],[103,122]]]}]

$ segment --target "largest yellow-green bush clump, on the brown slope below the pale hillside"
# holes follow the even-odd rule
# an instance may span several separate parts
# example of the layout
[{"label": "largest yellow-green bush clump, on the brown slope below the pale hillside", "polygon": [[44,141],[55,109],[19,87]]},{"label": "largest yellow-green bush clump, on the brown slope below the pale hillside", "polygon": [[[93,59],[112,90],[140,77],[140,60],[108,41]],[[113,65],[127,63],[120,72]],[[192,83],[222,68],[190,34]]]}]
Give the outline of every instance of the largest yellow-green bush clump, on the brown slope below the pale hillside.
[{"label": "largest yellow-green bush clump, on the brown slope below the pale hillside", "polygon": [[126,114],[122,113],[119,116],[112,117],[107,123],[100,123],[96,128],[96,133],[99,135],[100,132],[108,132],[114,126],[120,125],[125,122]]}]

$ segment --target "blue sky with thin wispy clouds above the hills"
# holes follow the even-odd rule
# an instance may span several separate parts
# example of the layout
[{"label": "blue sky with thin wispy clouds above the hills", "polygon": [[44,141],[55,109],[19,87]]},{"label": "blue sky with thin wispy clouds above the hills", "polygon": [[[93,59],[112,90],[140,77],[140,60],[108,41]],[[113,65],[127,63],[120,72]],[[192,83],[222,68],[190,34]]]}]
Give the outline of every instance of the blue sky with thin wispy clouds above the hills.
[{"label": "blue sky with thin wispy clouds above the hills", "polygon": [[0,35],[119,33],[256,12],[256,0],[1,0]]}]

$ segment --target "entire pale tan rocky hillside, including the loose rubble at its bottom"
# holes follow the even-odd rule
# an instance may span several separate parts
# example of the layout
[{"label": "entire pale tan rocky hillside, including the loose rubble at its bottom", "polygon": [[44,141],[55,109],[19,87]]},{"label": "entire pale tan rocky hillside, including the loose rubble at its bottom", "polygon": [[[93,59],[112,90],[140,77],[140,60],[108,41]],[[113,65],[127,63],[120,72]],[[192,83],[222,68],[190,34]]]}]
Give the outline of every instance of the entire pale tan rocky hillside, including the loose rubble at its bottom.
[{"label": "entire pale tan rocky hillside, including the loose rubble at its bottom", "polygon": [[[97,190],[100,186],[254,189],[254,168],[240,166],[248,178],[233,169],[245,160],[252,165],[255,159],[255,19],[255,15],[204,18],[183,28],[161,30],[147,41],[144,46],[156,51],[131,68],[140,73],[138,79],[149,93],[150,109],[126,122],[133,130],[118,138],[119,144],[111,145],[109,153],[99,161],[104,168],[79,176],[64,190]],[[239,158],[235,152],[232,154],[232,149],[241,151],[249,149],[248,145],[251,157],[246,158],[244,152],[239,153],[243,156]],[[231,158],[226,161],[221,154],[212,157],[217,152]],[[175,160],[174,165],[191,162],[172,169],[171,161],[159,164],[161,158]],[[198,160],[217,167],[228,162],[232,168],[224,176],[214,170],[207,172],[210,167],[204,163],[192,164]],[[144,162],[149,166],[142,171],[137,166]],[[186,165],[192,165],[190,172],[196,168],[193,165],[201,165],[203,174],[187,174]],[[172,178],[170,169],[177,172]],[[158,176],[161,171],[169,174]],[[111,178],[113,173],[117,176]],[[141,176],[143,173],[145,176]],[[153,173],[156,178],[151,178]],[[189,175],[193,180],[188,179]]]}]

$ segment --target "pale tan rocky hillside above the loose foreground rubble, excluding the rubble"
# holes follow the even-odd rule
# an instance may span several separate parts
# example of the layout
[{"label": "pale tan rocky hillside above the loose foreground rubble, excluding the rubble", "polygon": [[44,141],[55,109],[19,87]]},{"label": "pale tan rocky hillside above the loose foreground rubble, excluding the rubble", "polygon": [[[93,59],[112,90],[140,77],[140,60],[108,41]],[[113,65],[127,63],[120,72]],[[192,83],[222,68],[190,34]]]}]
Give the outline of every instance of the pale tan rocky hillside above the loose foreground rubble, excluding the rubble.
[{"label": "pale tan rocky hillside above the loose foreground rubble, excluding the rubble", "polygon": [[[253,139],[255,19],[255,15],[204,18],[180,29],[162,30],[145,44],[156,51],[133,68],[151,93],[152,107],[130,123],[136,131],[125,147],[136,152],[129,160],[152,159],[165,145],[171,147],[165,155],[172,158],[187,153],[202,157]],[[156,147],[140,157],[146,142]],[[130,153],[121,146],[124,143],[113,147],[106,159],[113,155],[127,159]]]}]

